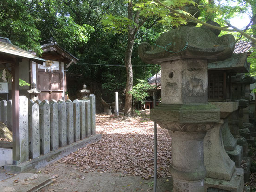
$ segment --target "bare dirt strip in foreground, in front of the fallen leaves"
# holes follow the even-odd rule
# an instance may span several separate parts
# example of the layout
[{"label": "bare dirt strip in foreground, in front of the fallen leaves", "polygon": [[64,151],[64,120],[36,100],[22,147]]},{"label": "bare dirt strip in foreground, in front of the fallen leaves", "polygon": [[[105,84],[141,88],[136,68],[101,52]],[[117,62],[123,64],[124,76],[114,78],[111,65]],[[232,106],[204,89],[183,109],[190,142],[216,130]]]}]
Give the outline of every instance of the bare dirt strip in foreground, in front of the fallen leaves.
[{"label": "bare dirt strip in foreground, in front of the fallen leaves", "polygon": [[[149,192],[152,191],[150,182],[139,176],[125,176],[122,173],[101,173],[97,171],[84,173],[74,169],[72,165],[55,163],[46,166],[37,174],[46,174],[54,180],[52,185],[46,186],[39,192]],[[157,180],[158,192],[170,192],[171,178]]]}]

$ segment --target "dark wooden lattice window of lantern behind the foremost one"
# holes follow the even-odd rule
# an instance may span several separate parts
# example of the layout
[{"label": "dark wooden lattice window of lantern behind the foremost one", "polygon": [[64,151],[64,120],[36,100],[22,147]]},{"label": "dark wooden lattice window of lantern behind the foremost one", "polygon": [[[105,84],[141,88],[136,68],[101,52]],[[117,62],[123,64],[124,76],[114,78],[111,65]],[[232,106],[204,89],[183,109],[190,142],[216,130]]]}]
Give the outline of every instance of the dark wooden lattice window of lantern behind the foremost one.
[{"label": "dark wooden lattice window of lantern behind the foremost one", "polygon": [[225,71],[208,71],[208,99],[226,99],[226,78]]}]

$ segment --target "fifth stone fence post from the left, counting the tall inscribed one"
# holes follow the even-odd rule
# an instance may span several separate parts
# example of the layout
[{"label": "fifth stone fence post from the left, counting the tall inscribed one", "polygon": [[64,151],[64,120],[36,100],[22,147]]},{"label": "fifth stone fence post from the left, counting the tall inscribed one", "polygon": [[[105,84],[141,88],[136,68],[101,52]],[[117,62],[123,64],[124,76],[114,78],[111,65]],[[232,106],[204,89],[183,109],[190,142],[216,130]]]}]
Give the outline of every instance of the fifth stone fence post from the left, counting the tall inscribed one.
[{"label": "fifth stone fence post from the left, counting the tall inscribed one", "polygon": [[67,107],[63,100],[58,100],[59,147],[67,145]]}]

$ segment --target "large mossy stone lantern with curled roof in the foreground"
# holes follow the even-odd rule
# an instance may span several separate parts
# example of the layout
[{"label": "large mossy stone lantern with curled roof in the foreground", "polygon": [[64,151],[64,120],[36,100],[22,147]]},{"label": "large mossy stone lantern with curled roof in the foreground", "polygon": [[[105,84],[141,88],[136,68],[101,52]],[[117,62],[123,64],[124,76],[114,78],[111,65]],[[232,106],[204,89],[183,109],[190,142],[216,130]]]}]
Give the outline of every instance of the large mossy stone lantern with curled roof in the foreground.
[{"label": "large mossy stone lantern with curled roof in the foreground", "polygon": [[165,32],[153,46],[139,45],[144,62],[161,65],[162,104],[150,110],[150,119],[172,136],[173,192],[205,190],[203,140],[220,122],[220,109],[207,102],[207,64],[229,58],[235,45],[232,35],[218,34],[182,26]]}]

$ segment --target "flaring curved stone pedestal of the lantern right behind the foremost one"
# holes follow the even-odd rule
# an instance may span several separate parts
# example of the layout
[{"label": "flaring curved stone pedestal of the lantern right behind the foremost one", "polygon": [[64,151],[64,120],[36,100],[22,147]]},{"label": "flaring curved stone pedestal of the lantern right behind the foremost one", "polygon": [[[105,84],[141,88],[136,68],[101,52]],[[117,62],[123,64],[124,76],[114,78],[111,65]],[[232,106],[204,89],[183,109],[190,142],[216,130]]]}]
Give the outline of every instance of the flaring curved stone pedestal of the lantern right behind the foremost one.
[{"label": "flaring curved stone pedestal of the lantern right behind the foremost one", "polygon": [[235,168],[235,163],[225,151],[222,139],[223,128],[228,128],[227,118],[237,110],[238,102],[211,102],[211,104],[220,108],[221,121],[207,132],[204,139],[204,163],[207,171],[205,192],[211,190],[241,192],[244,185],[243,169]]}]

